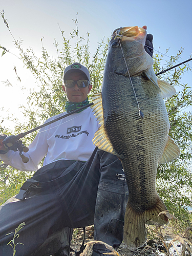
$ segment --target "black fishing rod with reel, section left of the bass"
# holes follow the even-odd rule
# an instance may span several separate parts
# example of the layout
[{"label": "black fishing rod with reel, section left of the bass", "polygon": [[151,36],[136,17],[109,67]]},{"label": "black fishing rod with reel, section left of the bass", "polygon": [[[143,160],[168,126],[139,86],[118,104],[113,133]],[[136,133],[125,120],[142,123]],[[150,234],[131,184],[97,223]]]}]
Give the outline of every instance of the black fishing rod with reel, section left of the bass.
[{"label": "black fishing rod with reel, section left of the bass", "polygon": [[51,123],[54,123],[54,122],[56,122],[56,121],[58,121],[58,120],[60,120],[60,119],[62,119],[62,118],[68,117],[68,116],[70,116],[70,115],[72,115],[72,114],[74,114],[74,113],[77,113],[77,112],[79,112],[79,111],[81,111],[81,110],[83,110],[83,109],[86,109],[86,108],[88,108],[88,107],[91,106],[91,105],[93,105],[93,102],[90,103],[90,104],[88,104],[88,105],[86,105],[86,106],[82,106],[81,108],[76,109],[76,110],[74,110],[74,111],[72,111],[72,112],[70,112],[70,113],[68,113],[68,114],[66,114],[66,115],[60,116],[60,117],[58,117],[58,118],[55,118],[55,119],[52,120],[52,121],[49,121],[49,122],[44,123],[44,124],[41,124],[41,125],[35,127],[34,129],[31,129],[31,130],[29,130],[29,131],[27,131],[27,132],[25,132],[25,133],[19,133],[19,134],[17,134],[17,135],[10,135],[10,136],[7,136],[7,137],[3,140],[3,144],[4,144],[5,148],[7,148],[8,150],[18,151],[18,152],[19,152],[19,156],[22,158],[22,161],[23,161],[24,163],[27,163],[27,162],[29,161],[29,158],[26,157],[26,156],[24,156],[23,152],[25,152],[25,153],[28,152],[28,151],[29,151],[29,148],[26,147],[26,146],[22,143],[22,140],[19,140],[19,139],[25,137],[27,134],[30,134],[30,133],[32,133],[32,132],[34,132],[34,131],[37,131],[38,129],[41,129],[42,127],[45,127],[45,126],[47,126],[47,125],[49,125],[49,124],[51,124]]}]

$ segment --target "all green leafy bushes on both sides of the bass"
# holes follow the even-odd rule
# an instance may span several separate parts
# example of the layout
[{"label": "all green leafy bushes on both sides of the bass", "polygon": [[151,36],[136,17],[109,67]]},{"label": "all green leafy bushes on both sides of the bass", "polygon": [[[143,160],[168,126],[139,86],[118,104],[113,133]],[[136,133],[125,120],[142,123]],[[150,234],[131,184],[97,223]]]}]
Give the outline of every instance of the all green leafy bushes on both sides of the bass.
[{"label": "all green leafy bushes on both sides of the bass", "polygon": [[[7,28],[7,20],[4,17],[4,12],[1,13],[4,23]],[[43,46],[41,56],[36,56],[33,49],[22,49],[18,40],[14,39],[14,45],[18,49],[20,59],[23,60],[27,69],[29,69],[36,78],[39,91],[31,91],[28,96],[28,106],[22,106],[23,114],[28,119],[27,124],[20,123],[15,126],[15,134],[23,131],[28,131],[33,127],[44,122],[50,116],[63,112],[63,104],[65,104],[66,96],[61,92],[62,73],[63,70],[71,63],[78,61],[88,67],[93,84],[92,94],[101,90],[104,63],[107,54],[108,41],[103,40],[98,45],[95,53],[91,57],[89,51],[89,33],[87,40],[79,36],[78,20],[74,19],[75,29],[70,33],[70,38],[67,38],[62,30],[62,49],[59,49],[58,43],[54,41],[57,58],[54,60],[49,57],[47,50]],[[9,30],[10,31],[10,30]],[[72,48],[72,42],[75,40],[75,47]],[[1,47],[3,53],[9,52],[5,47]],[[166,68],[172,67],[174,63],[181,58],[183,49],[179,50],[176,56],[171,56],[166,62]],[[154,70],[158,73],[163,69],[163,56],[156,54],[154,56]],[[191,205],[192,183],[190,180],[189,161],[191,160],[191,113],[184,112],[186,106],[192,105],[191,90],[187,84],[181,84],[180,80],[184,72],[189,70],[187,65],[182,68],[175,69],[175,72],[168,72],[169,76],[165,79],[165,75],[160,75],[159,79],[165,79],[176,90],[178,86],[182,90],[176,95],[165,99],[165,105],[170,121],[170,136],[180,146],[181,155],[172,163],[159,165],[157,173],[157,190],[160,197],[165,202],[170,211],[175,212],[175,215],[180,219],[186,218],[187,206]],[[167,76],[167,73],[166,73]],[[91,95],[90,95],[91,100]],[[10,131],[5,127],[0,127],[2,133],[10,134]],[[36,133],[30,134],[24,138],[24,142],[28,145],[34,139]],[[20,187],[20,182],[28,177],[26,173],[19,172],[12,167],[3,166],[0,171],[0,199],[3,203],[8,197],[14,195]]]}]

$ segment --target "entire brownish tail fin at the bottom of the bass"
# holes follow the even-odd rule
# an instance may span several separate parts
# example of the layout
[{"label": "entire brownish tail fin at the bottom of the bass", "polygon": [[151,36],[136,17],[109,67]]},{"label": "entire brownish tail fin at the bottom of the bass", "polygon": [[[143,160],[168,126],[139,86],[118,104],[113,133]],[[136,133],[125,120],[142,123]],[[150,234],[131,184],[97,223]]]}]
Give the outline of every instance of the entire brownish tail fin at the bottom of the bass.
[{"label": "entire brownish tail fin at the bottom of the bass", "polygon": [[160,212],[167,210],[163,201],[157,195],[157,203],[152,209],[143,212],[135,211],[127,202],[124,217],[124,243],[131,249],[142,247],[146,241],[145,224],[154,222],[163,225],[168,223],[168,218]]}]

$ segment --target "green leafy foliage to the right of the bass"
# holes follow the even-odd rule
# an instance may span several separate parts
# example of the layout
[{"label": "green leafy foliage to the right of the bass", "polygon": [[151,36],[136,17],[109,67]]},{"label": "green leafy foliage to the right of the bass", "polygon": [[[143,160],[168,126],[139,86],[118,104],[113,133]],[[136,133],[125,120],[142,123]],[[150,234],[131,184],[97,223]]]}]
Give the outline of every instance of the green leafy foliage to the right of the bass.
[{"label": "green leafy foliage to the right of the bass", "polygon": [[[167,61],[167,67],[174,66],[177,60],[181,58],[183,49],[178,51],[176,56],[171,56]],[[160,71],[160,62],[162,55],[158,54],[154,57],[155,73]],[[181,84],[180,80],[185,71],[190,70],[188,66],[181,66],[174,73],[168,72],[158,77],[166,80],[172,86],[182,90],[178,91],[174,96],[165,100],[165,105],[170,122],[169,135],[175,140],[180,147],[180,157],[172,163],[158,166],[157,173],[157,191],[169,211],[174,212],[180,220],[186,219],[187,207],[191,205],[191,121],[192,115],[184,110],[192,105],[192,91],[188,84]]]}]

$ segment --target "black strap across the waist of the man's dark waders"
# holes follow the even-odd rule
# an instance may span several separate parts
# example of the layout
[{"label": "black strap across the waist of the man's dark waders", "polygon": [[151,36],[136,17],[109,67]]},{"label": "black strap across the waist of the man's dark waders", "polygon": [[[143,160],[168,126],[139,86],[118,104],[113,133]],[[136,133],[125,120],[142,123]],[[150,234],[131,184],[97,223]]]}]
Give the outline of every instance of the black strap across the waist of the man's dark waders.
[{"label": "black strap across the waist of the man's dark waders", "polygon": [[30,193],[31,191],[36,191],[36,193],[39,193],[41,191],[44,191],[44,189],[47,189],[49,187],[53,187],[55,182],[58,182],[58,180],[64,180],[63,185],[66,184],[68,181],[70,181],[75,174],[77,173],[76,170],[71,170],[71,172],[69,172],[66,175],[63,175],[61,177],[58,177],[54,180],[50,180],[50,181],[46,181],[46,182],[42,182],[42,181],[37,181],[34,179],[27,179],[27,181],[23,184],[23,186],[20,188],[20,191],[18,193],[18,195],[16,195],[15,198],[19,199],[19,200],[24,200],[27,196],[28,193]]}]

